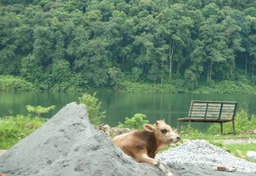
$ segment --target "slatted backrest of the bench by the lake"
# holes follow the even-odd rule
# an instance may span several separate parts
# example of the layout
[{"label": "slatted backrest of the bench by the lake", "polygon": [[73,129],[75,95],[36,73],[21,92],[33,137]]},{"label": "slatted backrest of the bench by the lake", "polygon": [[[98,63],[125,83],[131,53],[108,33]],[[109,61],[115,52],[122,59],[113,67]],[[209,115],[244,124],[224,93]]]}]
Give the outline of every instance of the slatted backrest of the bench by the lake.
[{"label": "slatted backrest of the bench by the lake", "polygon": [[191,101],[189,118],[233,119],[237,102]]}]

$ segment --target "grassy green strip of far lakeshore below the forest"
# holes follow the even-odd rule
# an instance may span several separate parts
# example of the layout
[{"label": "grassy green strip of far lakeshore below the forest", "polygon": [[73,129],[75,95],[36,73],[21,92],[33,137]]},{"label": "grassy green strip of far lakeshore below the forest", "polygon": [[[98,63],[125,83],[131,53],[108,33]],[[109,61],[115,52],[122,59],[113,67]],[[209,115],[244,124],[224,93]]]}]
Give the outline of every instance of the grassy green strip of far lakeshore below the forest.
[{"label": "grassy green strip of far lakeshore below the forest", "polygon": [[[0,75],[0,91],[33,91],[33,90],[53,90],[49,86],[34,85],[20,77],[10,75]],[[186,82],[181,79],[174,79],[166,83],[150,82],[130,82],[122,80],[122,86],[118,87],[94,87],[94,86],[71,86],[66,89],[72,91],[111,90],[130,93],[192,93],[192,94],[256,94],[256,85],[242,81],[219,81],[219,82],[199,82],[193,89],[186,86]]]}]

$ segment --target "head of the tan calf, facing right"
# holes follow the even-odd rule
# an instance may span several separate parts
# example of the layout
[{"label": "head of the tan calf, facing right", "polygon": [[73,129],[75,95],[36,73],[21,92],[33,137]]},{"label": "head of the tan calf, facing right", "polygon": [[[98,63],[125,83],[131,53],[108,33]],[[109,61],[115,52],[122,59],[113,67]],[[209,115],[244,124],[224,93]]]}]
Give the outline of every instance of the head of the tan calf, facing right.
[{"label": "head of the tan calf, facing right", "polygon": [[158,120],[154,125],[145,124],[144,129],[154,133],[154,137],[158,142],[163,144],[170,144],[180,140],[180,136],[176,134],[174,130],[164,122],[164,120]]}]

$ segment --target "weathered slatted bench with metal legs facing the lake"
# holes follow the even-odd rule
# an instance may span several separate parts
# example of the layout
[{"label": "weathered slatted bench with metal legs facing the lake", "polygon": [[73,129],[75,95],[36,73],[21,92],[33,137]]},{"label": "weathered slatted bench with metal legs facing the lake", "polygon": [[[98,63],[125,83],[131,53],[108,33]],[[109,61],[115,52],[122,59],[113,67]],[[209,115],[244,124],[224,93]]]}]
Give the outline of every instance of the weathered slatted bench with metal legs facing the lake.
[{"label": "weathered slatted bench with metal legs facing the lake", "polygon": [[190,110],[187,118],[178,118],[179,122],[216,122],[221,125],[223,133],[223,122],[232,122],[234,130],[234,116],[237,110],[238,102],[217,102],[217,101],[191,101]]}]

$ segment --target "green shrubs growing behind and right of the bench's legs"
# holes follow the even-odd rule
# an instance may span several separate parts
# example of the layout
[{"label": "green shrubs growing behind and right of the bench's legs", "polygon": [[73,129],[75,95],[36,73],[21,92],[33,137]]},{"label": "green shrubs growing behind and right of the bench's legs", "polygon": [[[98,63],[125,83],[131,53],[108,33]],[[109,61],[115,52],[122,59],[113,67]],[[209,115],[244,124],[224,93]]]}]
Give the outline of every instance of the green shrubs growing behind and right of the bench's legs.
[{"label": "green shrubs growing behind and right of the bench's legs", "polygon": [[[248,130],[255,130],[256,118],[254,115],[250,117],[247,107],[242,106],[238,110],[235,116],[234,126],[235,126],[236,133],[238,134],[241,134]],[[223,123],[223,130],[224,130],[224,133],[233,133],[232,122]],[[211,125],[209,130],[207,131],[207,133],[209,134],[218,134],[219,132],[220,132],[220,126],[218,124]]]}]

